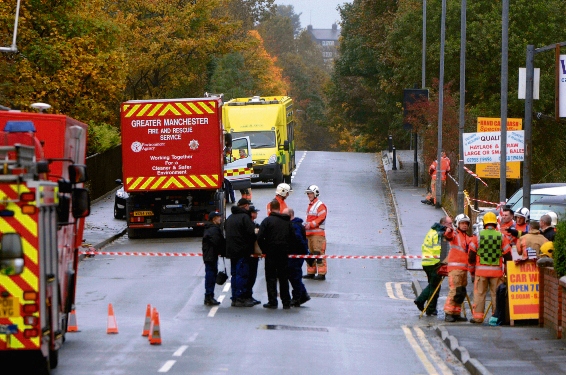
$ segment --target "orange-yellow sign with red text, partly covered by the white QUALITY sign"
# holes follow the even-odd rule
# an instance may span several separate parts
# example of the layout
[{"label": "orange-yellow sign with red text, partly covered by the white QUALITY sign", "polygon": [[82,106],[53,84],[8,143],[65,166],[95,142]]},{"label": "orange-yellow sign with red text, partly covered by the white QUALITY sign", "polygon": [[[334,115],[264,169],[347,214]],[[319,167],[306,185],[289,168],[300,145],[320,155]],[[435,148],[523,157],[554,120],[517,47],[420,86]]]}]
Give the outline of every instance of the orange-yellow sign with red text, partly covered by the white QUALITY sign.
[{"label": "orange-yellow sign with red text, partly covered by the white QUALITY sign", "polygon": [[[508,118],[507,130],[522,130],[523,119]],[[498,132],[501,131],[501,119],[492,117],[478,117],[478,132]],[[521,162],[512,161],[505,164],[507,178],[521,178]],[[499,178],[500,166],[499,163],[482,163],[476,164],[476,174],[483,178]]]}]

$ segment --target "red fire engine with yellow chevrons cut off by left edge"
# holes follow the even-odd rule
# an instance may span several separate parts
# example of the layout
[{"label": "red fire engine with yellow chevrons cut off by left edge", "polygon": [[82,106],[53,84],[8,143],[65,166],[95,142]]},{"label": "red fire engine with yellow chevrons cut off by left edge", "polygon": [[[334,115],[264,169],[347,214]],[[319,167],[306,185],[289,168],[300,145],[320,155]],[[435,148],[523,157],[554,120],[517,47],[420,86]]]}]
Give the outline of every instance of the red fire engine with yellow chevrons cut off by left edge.
[{"label": "red fire engine with yellow chevrons cut off by left edge", "polygon": [[57,366],[90,212],[86,136],[87,126],[67,116],[0,111],[2,371]]}]

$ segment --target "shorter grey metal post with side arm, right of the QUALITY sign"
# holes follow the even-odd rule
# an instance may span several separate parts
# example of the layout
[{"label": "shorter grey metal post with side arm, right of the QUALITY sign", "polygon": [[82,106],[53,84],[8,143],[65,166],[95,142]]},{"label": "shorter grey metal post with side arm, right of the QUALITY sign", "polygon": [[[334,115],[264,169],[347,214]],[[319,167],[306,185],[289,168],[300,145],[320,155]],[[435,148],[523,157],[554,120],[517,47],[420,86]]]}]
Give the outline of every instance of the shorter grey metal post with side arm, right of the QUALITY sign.
[{"label": "shorter grey metal post with side arm, right of the QUALITY sign", "polygon": [[523,206],[531,209],[531,154],[533,123],[533,81],[535,75],[535,46],[527,46],[525,90],[525,161],[523,161]]}]

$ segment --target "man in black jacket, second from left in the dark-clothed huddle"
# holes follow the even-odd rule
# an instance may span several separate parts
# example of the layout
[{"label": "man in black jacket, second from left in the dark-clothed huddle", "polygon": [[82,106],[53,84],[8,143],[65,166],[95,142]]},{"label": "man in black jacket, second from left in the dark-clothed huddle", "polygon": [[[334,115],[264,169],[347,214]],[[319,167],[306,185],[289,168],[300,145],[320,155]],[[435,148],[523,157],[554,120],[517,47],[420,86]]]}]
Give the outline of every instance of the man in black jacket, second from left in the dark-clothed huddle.
[{"label": "man in black jacket, second from left in the dark-clothed huddle", "polygon": [[250,201],[242,198],[232,207],[224,229],[226,231],[226,256],[230,258],[232,273],[232,306],[252,307],[254,303],[246,299],[249,275],[249,259],[254,251],[256,240],[255,226],[248,212]]}]

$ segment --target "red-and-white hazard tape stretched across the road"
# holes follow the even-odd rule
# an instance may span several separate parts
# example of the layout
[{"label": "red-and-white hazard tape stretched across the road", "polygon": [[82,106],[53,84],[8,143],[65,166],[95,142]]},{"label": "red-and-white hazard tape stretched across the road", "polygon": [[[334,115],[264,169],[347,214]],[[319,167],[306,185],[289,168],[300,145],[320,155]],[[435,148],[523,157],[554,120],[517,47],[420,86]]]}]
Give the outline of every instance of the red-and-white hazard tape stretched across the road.
[{"label": "red-and-white hazard tape stretched across the road", "polygon": [[[129,252],[129,251],[79,251],[83,255],[142,256],[142,257],[201,257],[202,253],[166,253],[166,252]],[[265,258],[265,255],[250,255],[252,258]],[[299,259],[432,259],[440,256],[431,255],[295,255],[289,258]]]}]

